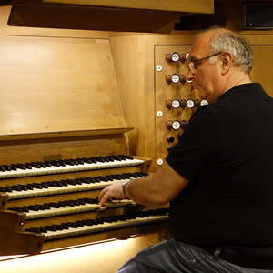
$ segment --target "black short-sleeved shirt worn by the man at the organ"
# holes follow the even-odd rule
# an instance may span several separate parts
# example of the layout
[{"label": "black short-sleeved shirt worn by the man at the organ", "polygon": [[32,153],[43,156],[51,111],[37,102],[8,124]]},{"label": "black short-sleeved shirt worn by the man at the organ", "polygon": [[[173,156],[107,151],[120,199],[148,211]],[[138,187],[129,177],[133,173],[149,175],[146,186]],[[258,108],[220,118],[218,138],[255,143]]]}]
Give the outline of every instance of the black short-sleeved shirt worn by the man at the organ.
[{"label": "black short-sleeved shirt worn by the man at the organ", "polygon": [[170,205],[175,239],[266,249],[261,258],[271,261],[249,266],[273,268],[273,99],[259,84],[235,86],[202,106],[167,163],[189,180]]}]

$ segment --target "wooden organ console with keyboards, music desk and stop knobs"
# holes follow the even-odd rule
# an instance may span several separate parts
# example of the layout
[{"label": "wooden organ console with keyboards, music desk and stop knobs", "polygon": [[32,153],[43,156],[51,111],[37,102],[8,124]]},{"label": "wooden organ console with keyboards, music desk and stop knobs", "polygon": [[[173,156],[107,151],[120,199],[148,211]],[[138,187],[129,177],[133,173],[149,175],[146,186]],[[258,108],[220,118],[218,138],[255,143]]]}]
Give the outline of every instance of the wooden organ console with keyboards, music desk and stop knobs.
[{"label": "wooden organ console with keyboards, music desk and stop knobs", "polygon": [[[0,8],[1,20],[6,15]],[[186,84],[189,38],[181,44],[169,35],[15,28],[5,34],[0,255],[136,235],[152,235],[149,244],[167,238],[167,207],[130,200],[102,207],[97,196],[116,181],[154,172],[177,143],[177,126],[192,115],[181,101],[198,98]],[[169,52],[178,54],[167,61]]]}]

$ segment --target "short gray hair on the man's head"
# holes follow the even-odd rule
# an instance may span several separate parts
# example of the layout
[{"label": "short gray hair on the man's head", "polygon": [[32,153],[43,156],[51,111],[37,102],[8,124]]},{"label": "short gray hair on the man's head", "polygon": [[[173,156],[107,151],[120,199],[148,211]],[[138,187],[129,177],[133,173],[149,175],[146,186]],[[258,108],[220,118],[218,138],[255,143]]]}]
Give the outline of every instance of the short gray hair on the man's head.
[{"label": "short gray hair on the man's head", "polygon": [[[222,29],[223,30],[223,29]],[[232,31],[217,32],[210,40],[210,53],[229,51],[233,56],[233,63],[245,73],[250,73],[253,66],[252,50],[248,41]]]}]

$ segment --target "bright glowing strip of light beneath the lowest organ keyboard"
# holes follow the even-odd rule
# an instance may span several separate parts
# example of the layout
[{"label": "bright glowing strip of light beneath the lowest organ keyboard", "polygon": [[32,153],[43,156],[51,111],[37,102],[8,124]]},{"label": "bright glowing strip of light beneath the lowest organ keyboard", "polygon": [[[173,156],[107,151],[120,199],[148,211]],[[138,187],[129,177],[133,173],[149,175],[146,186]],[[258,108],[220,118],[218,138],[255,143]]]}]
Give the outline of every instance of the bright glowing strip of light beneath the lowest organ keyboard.
[{"label": "bright glowing strip of light beneath the lowest organ keyboard", "polygon": [[0,273],[113,273],[153,239],[147,235],[2,260]]}]

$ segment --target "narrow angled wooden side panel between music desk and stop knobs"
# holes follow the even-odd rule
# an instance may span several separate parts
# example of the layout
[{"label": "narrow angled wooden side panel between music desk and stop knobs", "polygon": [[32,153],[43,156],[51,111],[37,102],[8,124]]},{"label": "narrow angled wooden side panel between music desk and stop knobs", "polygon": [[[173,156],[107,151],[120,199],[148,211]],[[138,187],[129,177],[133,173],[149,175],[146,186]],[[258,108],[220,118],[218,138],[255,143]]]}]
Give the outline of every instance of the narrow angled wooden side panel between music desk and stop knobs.
[{"label": "narrow angled wooden side panel between music desk and stop knobs", "polygon": [[146,156],[145,139],[151,137],[147,136],[145,124],[146,109],[149,107],[147,96],[152,90],[145,89],[146,48],[144,36],[111,37],[110,45],[126,126],[136,127],[135,130],[128,133],[130,154]]}]

